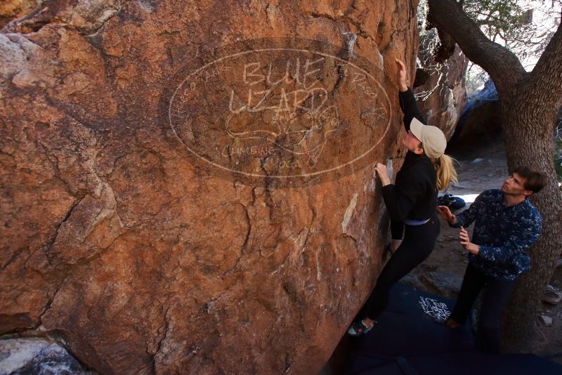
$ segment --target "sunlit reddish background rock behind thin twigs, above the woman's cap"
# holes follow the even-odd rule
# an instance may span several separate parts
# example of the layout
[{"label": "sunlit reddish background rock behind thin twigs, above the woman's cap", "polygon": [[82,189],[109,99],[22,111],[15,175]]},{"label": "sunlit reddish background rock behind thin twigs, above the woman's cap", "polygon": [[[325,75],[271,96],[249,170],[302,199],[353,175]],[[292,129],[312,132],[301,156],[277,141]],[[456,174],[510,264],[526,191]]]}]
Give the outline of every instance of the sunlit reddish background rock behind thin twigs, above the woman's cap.
[{"label": "sunlit reddish background rock behind thin twigs, above the woman's cap", "polygon": [[[427,124],[437,126],[447,139],[455,132],[455,126],[466,104],[464,75],[469,60],[459,46],[450,58],[438,63],[431,55],[431,45],[436,41],[434,29],[421,38],[419,62],[414,93],[420,102],[420,111]],[[423,78],[422,78],[423,77]]]}]

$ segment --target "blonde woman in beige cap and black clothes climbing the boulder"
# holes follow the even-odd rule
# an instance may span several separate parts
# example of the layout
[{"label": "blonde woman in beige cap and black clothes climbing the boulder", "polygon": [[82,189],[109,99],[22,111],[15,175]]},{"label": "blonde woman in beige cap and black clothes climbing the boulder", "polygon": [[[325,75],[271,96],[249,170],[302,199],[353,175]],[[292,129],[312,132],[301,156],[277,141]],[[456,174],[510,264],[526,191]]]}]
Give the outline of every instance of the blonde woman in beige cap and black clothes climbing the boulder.
[{"label": "blonde woman in beige cap and black clothes climbing the boulder", "polygon": [[457,181],[452,158],[444,154],[447,140],[436,126],[422,124],[423,117],[414,93],[406,85],[406,68],[396,60],[400,93],[400,109],[404,113],[407,148],[404,164],[392,184],[384,164],[374,171],[381,178],[382,196],[391,217],[393,255],[384,266],[360,319],[351,324],[348,334],[359,336],[369,332],[388,303],[393,284],[423,262],[435,245],[439,234],[437,192],[445,190],[450,181]]}]

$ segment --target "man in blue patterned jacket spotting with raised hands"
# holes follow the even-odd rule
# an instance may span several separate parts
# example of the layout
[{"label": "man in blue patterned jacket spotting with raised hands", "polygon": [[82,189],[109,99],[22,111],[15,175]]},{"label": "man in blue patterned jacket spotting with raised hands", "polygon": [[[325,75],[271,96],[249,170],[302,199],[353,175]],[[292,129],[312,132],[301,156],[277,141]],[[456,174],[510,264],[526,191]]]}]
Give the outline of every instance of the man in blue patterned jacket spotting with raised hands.
[{"label": "man in blue patterned jacket spotting with raised hands", "polygon": [[[460,243],[469,251],[461,291],[445,325],[457,328],[463,324],[484,289],[476,345],[485,353],[499,353],[499,318],[516,278],[530,268],[526,250],[539,238],[542,218],[527,198],[539,192],[545,183],[544,174],[520,166],[505,180],[501,190],[486,190],[458,216],[447,206],[438,206],[451,227],[461,228]],[[476,223],[470,239],[464,227],[473,221]]]}]

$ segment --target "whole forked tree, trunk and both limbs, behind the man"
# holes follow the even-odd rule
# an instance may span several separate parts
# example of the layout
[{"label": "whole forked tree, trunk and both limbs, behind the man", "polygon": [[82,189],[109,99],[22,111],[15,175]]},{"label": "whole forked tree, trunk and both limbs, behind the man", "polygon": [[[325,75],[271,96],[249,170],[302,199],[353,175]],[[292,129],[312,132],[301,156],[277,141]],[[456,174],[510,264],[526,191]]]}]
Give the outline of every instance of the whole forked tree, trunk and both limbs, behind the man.
[{"label": "whole forked tree, trunk and both limbs, behind the man", "polygon": [[562,28],[559,26],[532,73],[526,73],[513,53],[492,43],[455,1],[429,0],[431,21],[450,34],[473,62],[495,82],[502,103],[507,166],[528,165],[549,176],[549,183],[531,198],[542,218],[538,242],[529,250],[531,270],[516,286],[504,314],[504,347],[530,348],[544,286],[562,249],[562,195],[554,171],[553,134],[562,96]]}]

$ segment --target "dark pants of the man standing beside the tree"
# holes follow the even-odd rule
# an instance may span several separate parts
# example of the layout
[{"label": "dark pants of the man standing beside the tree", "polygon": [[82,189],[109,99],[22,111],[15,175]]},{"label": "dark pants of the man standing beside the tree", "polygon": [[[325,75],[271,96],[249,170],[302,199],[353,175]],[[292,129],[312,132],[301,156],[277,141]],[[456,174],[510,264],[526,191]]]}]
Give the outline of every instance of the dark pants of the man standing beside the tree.
[{"label": "dark pants of the man standing beside the tree", "polygon": [[464,323],[481,289],[484,289],[476,346],[484,353],[499,353],[499,318],[511,296],[515,280],[494,279],[471,263],[466,267],[462,287],[450,318]]}]

